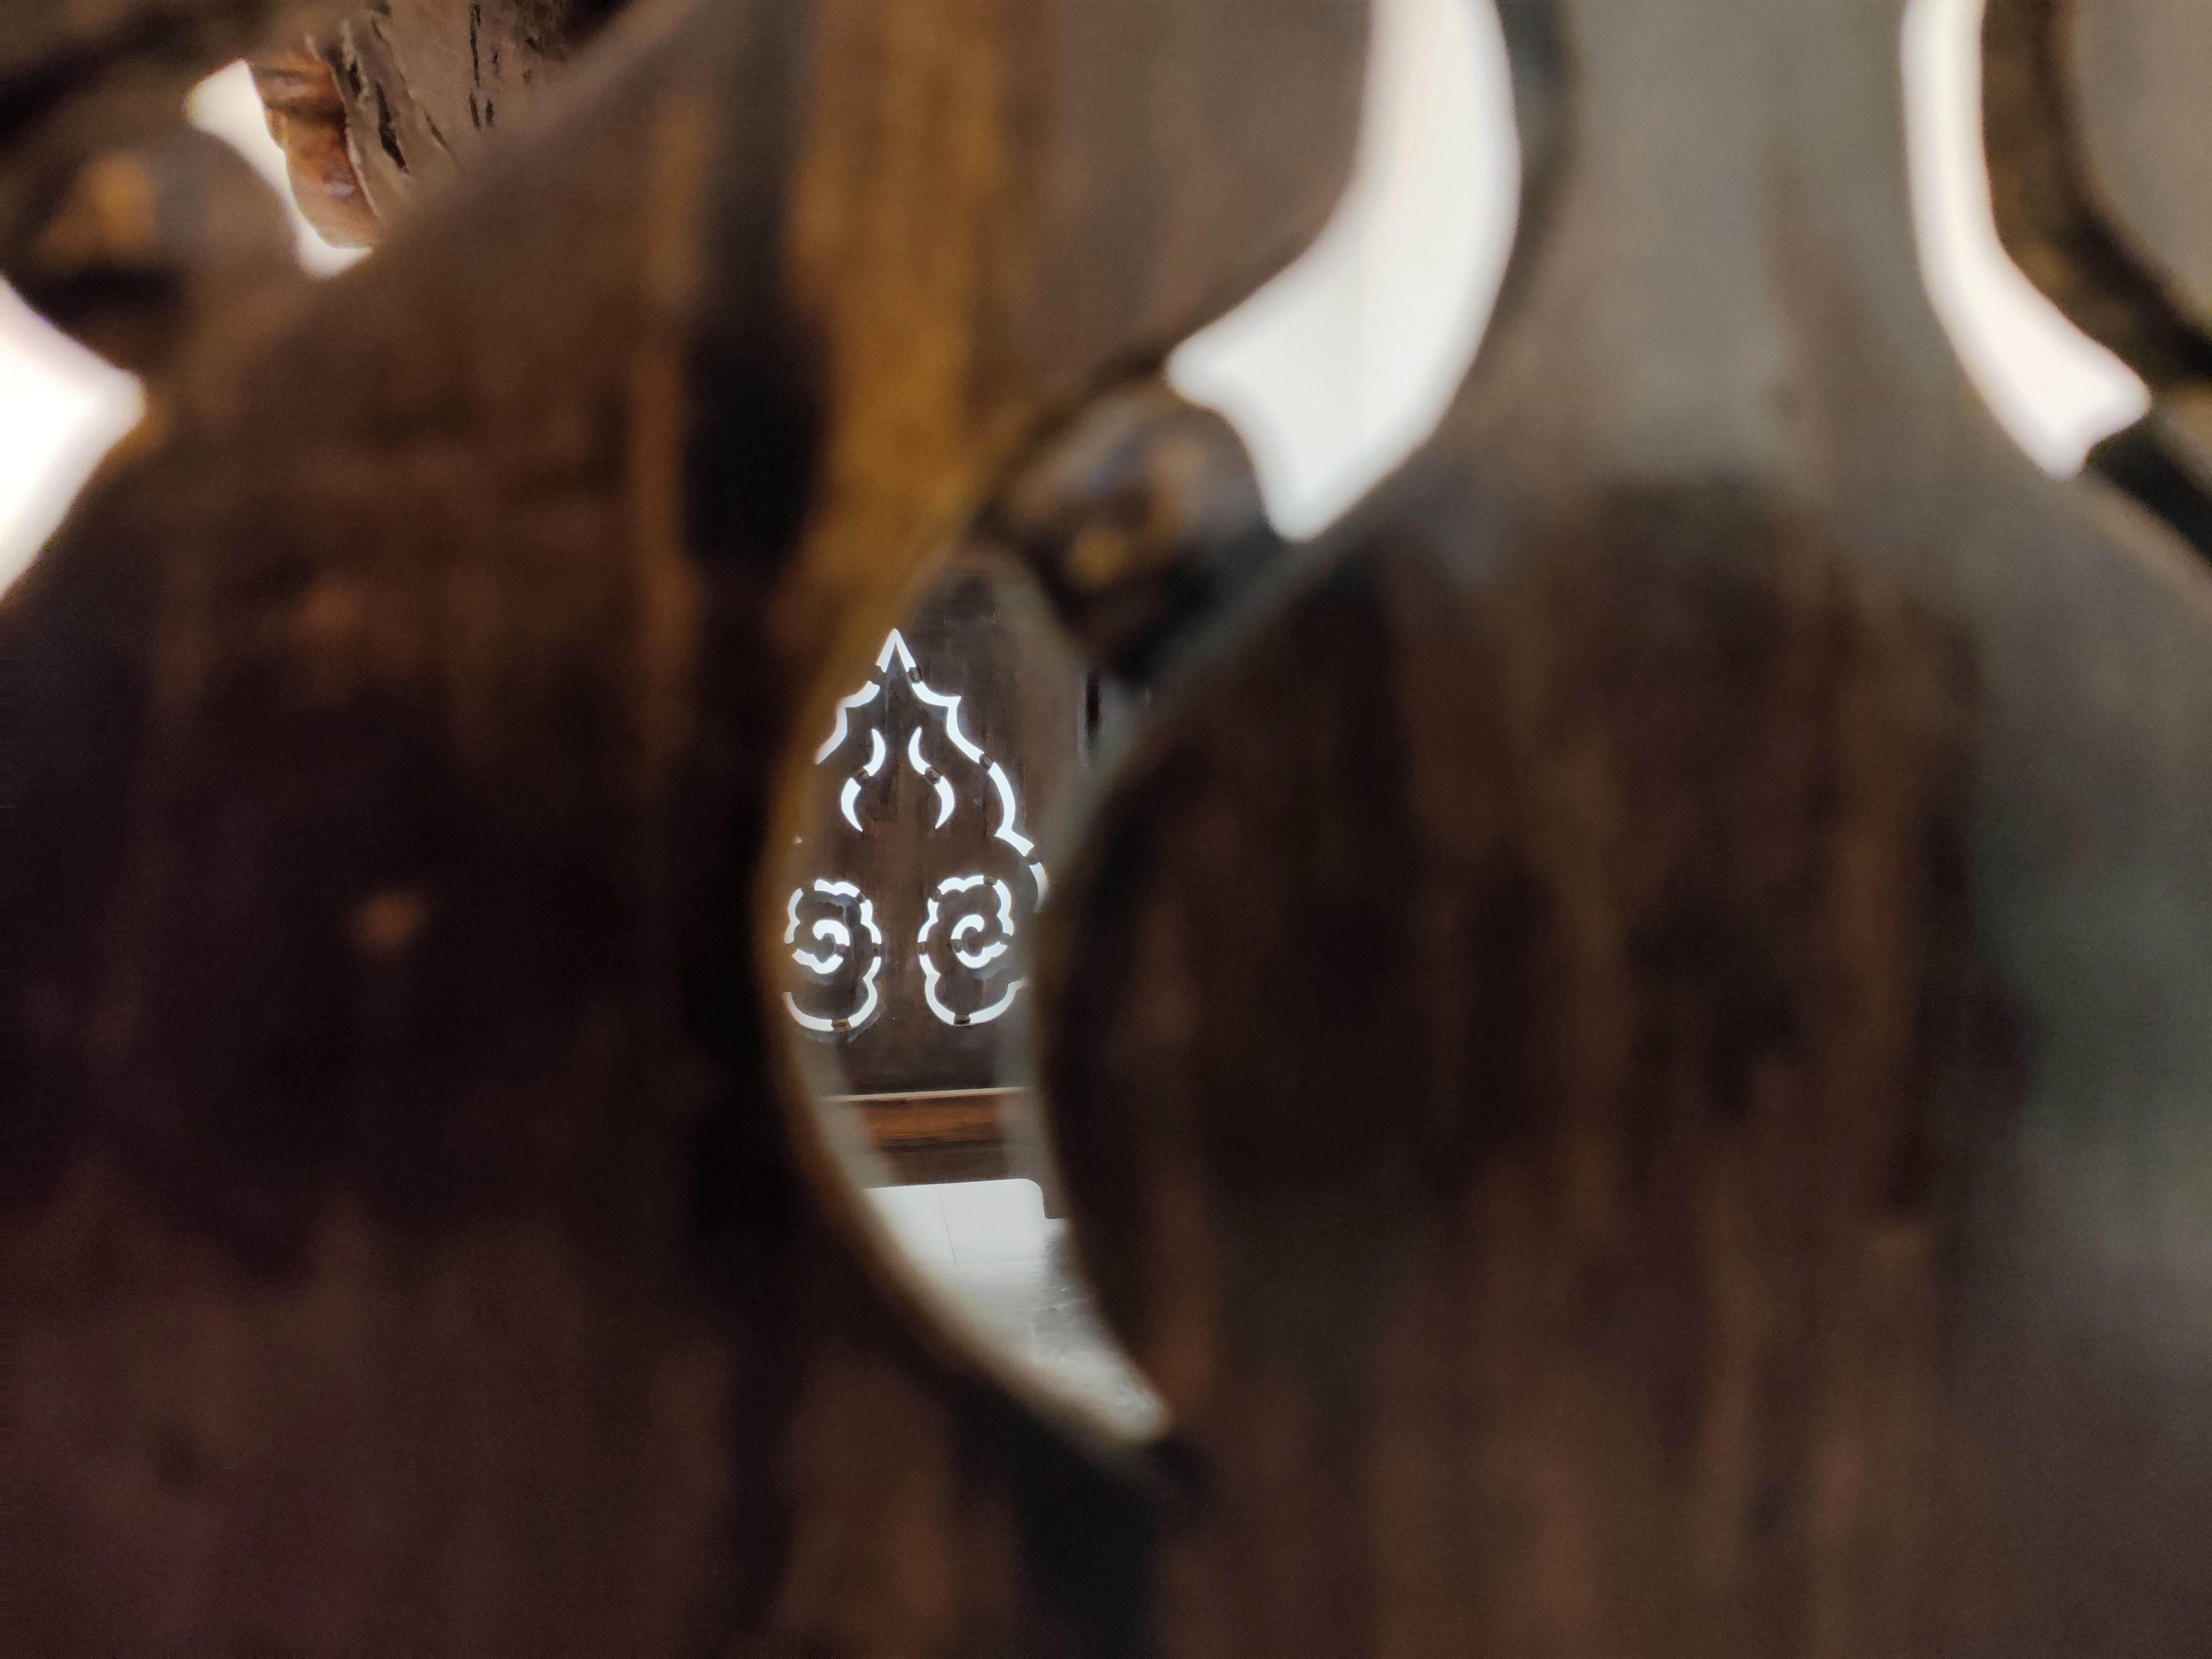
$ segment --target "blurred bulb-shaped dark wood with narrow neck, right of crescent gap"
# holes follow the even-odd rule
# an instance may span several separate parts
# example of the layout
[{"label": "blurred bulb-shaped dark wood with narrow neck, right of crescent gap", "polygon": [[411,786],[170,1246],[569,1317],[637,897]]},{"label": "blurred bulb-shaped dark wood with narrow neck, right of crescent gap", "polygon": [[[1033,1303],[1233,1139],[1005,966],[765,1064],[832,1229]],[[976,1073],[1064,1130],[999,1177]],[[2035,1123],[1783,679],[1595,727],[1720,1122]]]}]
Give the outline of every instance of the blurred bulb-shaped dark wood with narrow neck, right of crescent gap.
[{"label": "blurred bulb-shaped dark wood with narrow neck, right of crescent gap", "polygon": [[2212,580],[1962,385],[1896,7],[1504,18],[1460,405],[1048,916],[1164,1650],[2201,1650]]}]

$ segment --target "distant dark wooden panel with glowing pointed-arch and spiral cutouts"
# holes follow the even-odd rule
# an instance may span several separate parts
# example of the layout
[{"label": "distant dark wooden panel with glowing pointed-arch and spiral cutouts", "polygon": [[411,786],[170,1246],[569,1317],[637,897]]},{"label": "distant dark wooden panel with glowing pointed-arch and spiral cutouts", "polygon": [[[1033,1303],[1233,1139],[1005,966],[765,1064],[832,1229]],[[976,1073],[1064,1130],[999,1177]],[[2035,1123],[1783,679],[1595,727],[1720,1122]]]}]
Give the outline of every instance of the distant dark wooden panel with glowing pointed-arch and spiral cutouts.
[{"label": "distant dark wooden panel with glowing pointed-arch and spiral cutouts", "polygon": [[1024,1024],[1042,825],[1084,745],[1084,672],[1035,599],[949,571],[814,748],[785,858],[783,1011],[836,1095],[984,1091]]}]

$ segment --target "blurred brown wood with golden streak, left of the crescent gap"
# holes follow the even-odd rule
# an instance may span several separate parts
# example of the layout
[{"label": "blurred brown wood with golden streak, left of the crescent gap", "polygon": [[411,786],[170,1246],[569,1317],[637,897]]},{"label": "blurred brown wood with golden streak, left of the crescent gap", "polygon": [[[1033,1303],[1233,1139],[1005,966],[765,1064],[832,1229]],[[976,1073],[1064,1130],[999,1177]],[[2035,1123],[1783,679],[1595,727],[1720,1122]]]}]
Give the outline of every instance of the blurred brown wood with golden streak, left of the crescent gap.
[{"label": "blurred brown wood with golden streak, left of the crescent gap", "polygon": [[659,11],[164,398],[0,602],[0,1648],[1152,1646],[1135,1458],[772,1086],[757,865],[987,480],[1318,230],[1363,31]]}]

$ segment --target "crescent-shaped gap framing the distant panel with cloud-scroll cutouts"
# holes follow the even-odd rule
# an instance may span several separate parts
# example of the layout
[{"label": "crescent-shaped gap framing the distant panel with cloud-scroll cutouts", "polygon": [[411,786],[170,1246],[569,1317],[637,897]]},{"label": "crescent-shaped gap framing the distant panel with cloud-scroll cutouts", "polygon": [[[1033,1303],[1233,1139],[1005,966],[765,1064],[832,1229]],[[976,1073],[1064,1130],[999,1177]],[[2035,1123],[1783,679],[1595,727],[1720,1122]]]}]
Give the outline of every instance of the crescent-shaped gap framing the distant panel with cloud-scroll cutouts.
[{"label": "crescent-shaped gap framing the distant panel with cloud-scroll cutouts", "polygon": [[772,1020],[858,1214],[973,1347],[1110,1436],[1159,1400],[1093,1314],[1029,1088],[1029,953],[1097,681],[1009,562],[936,562],[845,666],[772,894]]}]

